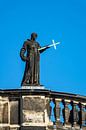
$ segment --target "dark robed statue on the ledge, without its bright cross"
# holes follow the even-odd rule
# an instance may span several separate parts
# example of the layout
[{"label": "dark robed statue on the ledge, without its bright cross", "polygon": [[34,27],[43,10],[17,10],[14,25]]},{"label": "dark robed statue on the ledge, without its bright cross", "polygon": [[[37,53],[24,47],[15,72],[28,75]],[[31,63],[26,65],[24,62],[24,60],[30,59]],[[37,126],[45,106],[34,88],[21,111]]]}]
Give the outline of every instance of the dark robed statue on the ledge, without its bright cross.
[{"label": "dark robed statue on the ledge, without its bright cross", "polygon": [[40,50],[39,48],[41,48],[41,46],[36,42],[36,38],[37,34],[32,33],[31,38],[24,42],[20,51],[21,59],[26,62],[25,72],[21,83],[22,86],[40,85],[40,53],[49,47]]}]

